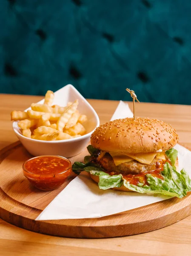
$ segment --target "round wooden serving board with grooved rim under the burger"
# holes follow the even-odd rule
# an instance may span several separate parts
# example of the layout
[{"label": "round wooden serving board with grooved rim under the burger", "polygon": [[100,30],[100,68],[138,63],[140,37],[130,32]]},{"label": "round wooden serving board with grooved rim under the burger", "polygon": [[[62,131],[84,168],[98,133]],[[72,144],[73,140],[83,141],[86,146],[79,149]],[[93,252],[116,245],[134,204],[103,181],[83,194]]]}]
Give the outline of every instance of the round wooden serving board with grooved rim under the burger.
[{"label": "round wooden serving board with grooved rim under the burger", "polygon": [[[86,151],[71,159],[83,160]],[[76,176],[53,191],[40,191],[23,176],[22,164],[31,155],[17,142],[0,151],[0,218],[34,232],[54,236],[106,238],[157,230],[191,214],[191,193],[127,212],[93,219],[35,221],[34,219]],[[128,196],[128,195],[127,195]]]}]

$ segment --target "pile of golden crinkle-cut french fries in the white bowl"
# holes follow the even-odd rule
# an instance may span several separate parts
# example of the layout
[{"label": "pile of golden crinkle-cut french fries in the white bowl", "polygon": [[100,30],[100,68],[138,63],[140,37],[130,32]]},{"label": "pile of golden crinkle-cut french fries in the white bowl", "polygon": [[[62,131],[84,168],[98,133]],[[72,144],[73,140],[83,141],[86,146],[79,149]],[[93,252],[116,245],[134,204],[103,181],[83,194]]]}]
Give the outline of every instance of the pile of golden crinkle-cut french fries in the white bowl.
[{"label": "pile of golden crinkle-cut french fries in the white bowl", "polygon": [[34,140],[68,140],[86,134],[82,125],[87,116],[77,110],[78,100],[68,102],[65,107],[52,105],[54,93],[45,95],[43,104],[32,103],[27,112],[12,111],[11,120],[18,121],[23,136]]}]

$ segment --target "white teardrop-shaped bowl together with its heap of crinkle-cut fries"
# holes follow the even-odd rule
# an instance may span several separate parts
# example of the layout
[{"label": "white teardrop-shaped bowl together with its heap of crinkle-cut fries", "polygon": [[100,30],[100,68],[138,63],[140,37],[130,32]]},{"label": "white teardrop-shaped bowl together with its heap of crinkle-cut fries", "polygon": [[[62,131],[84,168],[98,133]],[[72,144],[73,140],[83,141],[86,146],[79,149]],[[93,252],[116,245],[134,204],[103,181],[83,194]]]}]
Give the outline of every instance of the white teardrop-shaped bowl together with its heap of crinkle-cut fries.
[{"label": "white teardrop-shaped bowl together with its heap of crinkle-cut fries", "polygon": [[13,130],[34,156],[72,157],[87,146],[100,120],[86,99],[68,84],[25,111],[12,111]]}]

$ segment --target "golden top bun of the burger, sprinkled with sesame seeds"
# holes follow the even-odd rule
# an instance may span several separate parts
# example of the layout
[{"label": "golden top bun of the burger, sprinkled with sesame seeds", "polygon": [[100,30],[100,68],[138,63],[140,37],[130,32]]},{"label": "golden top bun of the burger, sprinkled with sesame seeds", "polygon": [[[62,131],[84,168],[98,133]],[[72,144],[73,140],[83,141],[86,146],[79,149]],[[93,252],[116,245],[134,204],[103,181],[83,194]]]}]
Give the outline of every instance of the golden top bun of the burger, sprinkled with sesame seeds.
[{"label": "golden top bun of the burger, sprinkled with sesame seeds", "polygon": [[147,153],[166,151],[178,142],[176,130],[157,119],[125,118],[100,125],[91,135],[91,145],[107,152]]}]

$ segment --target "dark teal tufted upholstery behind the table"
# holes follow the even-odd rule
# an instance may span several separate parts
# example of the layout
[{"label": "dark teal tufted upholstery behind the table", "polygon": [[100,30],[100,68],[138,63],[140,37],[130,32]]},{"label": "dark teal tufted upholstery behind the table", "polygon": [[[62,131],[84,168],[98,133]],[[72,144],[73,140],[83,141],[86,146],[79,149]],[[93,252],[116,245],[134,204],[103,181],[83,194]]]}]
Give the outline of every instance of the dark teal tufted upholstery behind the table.
[{"label": "dark teal tufted upholstery behind the table", "polygon": [[0,93],[191,104],[190,0],[0,0]]}]

